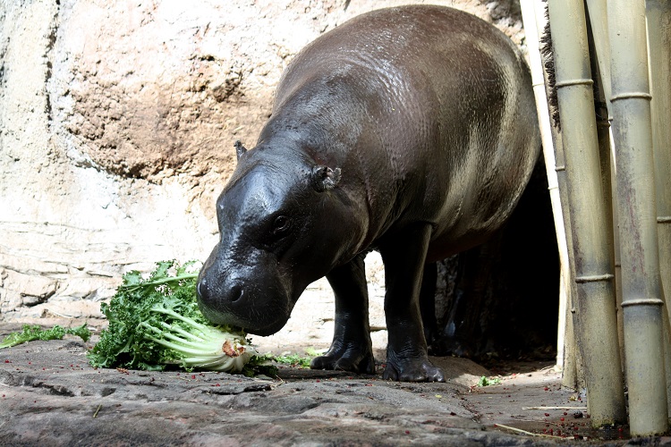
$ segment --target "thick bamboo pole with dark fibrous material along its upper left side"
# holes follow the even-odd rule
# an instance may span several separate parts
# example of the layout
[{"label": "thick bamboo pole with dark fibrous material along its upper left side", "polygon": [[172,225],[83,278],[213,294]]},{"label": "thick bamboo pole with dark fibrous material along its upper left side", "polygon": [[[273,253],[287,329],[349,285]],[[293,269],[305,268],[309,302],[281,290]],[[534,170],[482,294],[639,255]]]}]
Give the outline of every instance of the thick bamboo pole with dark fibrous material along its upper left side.
[{"label": "thick bamboo pole with dark fibrous material along its upper left side", "polygon": [[556,88],[565,148],[577,331],[593,426],[623,422],[624,390],[617,344],[613,261],[604,204],[596,117],[582,0],[549,0]]}]

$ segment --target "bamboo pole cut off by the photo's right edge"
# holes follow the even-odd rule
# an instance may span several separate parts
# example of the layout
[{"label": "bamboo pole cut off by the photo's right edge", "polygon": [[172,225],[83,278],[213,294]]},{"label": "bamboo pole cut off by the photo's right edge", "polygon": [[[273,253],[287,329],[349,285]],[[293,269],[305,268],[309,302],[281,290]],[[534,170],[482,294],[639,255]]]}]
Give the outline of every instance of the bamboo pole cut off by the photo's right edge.
[{"label": "bamboo pole cut off by the photo's right edge", "polygon": [[665,358],[667,373],[667,407],[671,417],[671,2],[648,0],[648,48],[650,51],[650,101],[652,113],[652,153],[655,161],[655,197],[657,198],[657,231],[659,274],[662,299],[667,308],[665,324]]}]

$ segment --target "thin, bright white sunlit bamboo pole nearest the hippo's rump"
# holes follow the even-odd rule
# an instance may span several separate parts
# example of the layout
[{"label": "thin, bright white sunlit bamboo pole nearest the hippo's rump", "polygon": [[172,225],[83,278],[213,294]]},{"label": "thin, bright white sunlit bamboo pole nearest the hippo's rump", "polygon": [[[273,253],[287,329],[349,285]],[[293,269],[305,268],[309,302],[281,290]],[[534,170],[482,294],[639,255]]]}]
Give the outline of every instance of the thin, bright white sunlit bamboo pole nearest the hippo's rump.
[{"label": "thin, bright white sunlit bamboo pole nearest the hippo's rump", "polygon": [[529,52],[529,65],[531,68],[531,83],[533,93],[536,97],[536,111],[539,116],[539,130],[543,146],[543,158],[548,176],[548,191],[552,205],[552,215],[555,220],[556,242],[559,248],[559,315],[556,337],[556,367],[564,369],[564,347],[566,306],[568,301],[568,284],[571,281],[570,267],[568,261],[568,247],[566,246],[566,235],[564,227],[564,214],[559,196],[559,182],[555,170],[555,149],[552,141],[552,126],[548,110],[548,97],[545,91],[545,78],[543,76],[543,63],[540,59],[539,31],[536,28],[536,13],[533,6],[534,0],[520,0],[522,8],[522,22],[524,23],[524,35],[526,36],[527,49]]}]

